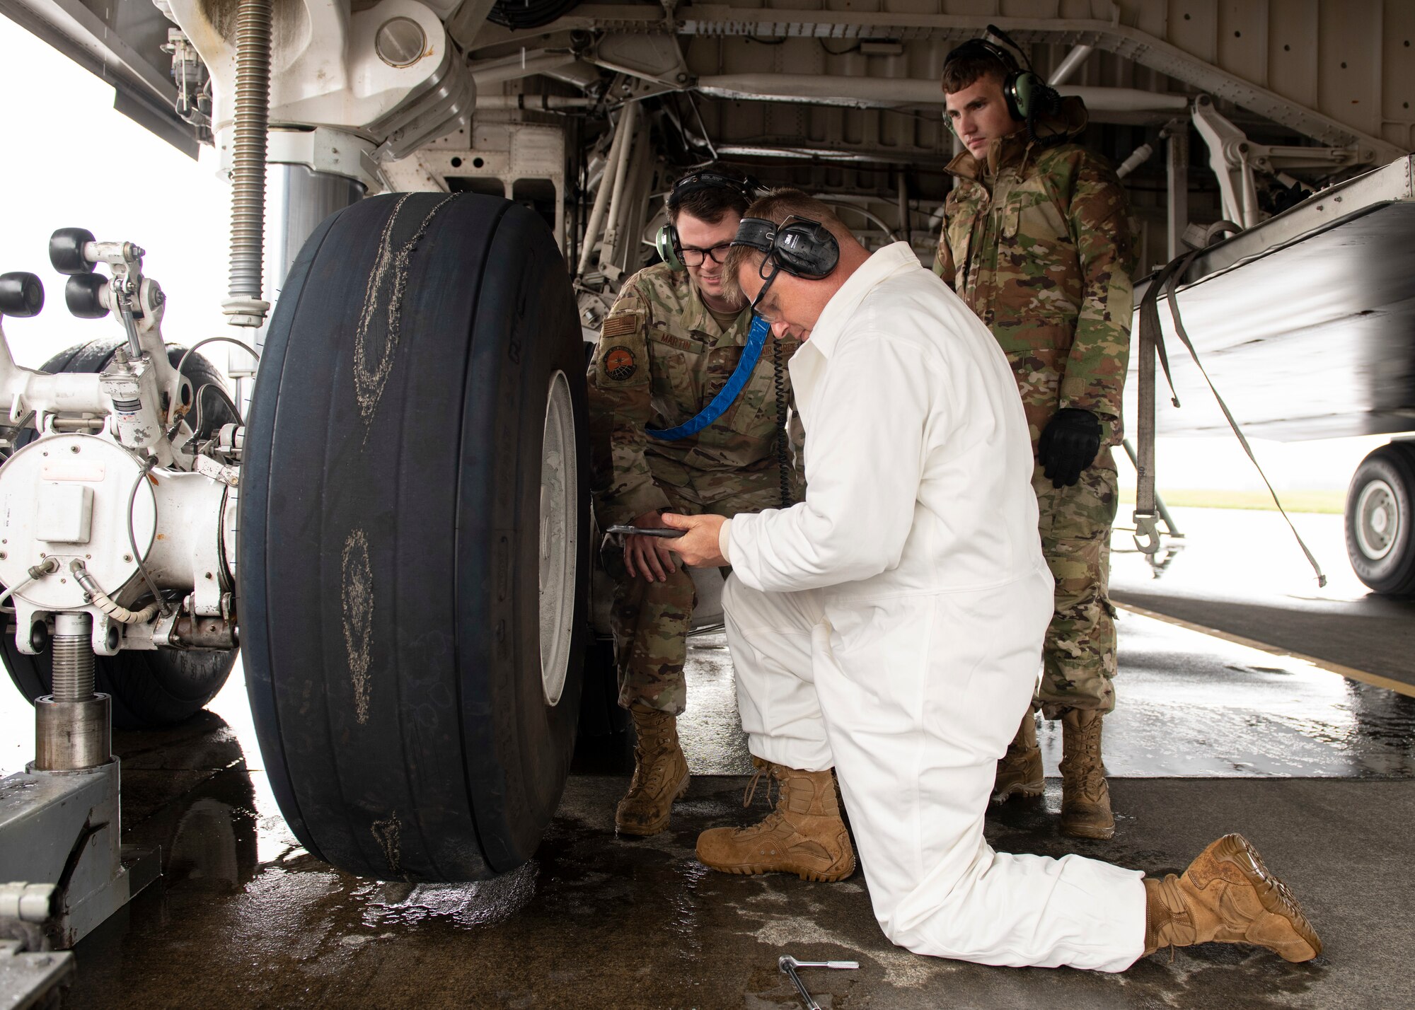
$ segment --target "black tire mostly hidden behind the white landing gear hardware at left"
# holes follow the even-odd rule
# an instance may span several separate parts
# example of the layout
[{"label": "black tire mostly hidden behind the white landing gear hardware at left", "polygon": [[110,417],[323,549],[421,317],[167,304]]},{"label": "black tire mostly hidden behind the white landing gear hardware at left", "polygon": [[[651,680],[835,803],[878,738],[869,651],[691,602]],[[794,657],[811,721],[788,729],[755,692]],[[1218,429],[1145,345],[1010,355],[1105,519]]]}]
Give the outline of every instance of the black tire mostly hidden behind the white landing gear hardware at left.
[{"label": "black tire mostly hidden behind the white landing gear hardware at left", "polygon": [[[41,371],[102,372],[117,345],[125,342],[105,337],[71,347],[44,362]],[[183,354],[185,348],[168,345],[167,358],[173,368],[181,362]],[[191,379],[192,390],[207,382],[221,382],[221,373],[201,351],[187,358],[183,375]],[[215,397],[208,400],[208,416],[202,422],[208,434],[232,420],[235,416],[225,403]],[[28,446],[34,439],[34,430],[27,429],[16,439],[16,447]],[[0,659],[14,686],[31,704],[50,693],[54,662],[48,651],[25,655],[16,646],[13,635],[0,635]],[[226,683],[235,663],[235,651],[125,651],[116,656],[95,656],[93,686],[102,695],[112,695],[115,727],[156,730],[183,723],[207,707]]]}]

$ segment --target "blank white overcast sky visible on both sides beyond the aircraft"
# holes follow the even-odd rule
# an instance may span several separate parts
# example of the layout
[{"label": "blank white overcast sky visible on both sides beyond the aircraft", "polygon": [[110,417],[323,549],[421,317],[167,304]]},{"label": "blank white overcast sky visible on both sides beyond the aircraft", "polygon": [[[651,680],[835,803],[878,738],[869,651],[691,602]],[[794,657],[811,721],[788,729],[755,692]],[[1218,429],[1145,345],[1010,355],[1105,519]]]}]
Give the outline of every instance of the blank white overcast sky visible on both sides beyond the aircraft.
[{"label": "blank white overcast sky visible on both sides beyond the aircraft", "polygon": [[[38,318],[6,321],[16,359],[35,368],[67,347],[120,332],[112,318],[76,320],[64,307],[64,277],[50,267],[47,252],[50,233],[64,226],[147,250],[144,269],[168,297],[163,321],[168,341],[190,345],[229,332],[221,314],[229,191],[216,175],[215,153],[202,147],[201,160],[192,161],[115,112],[109,85],[4,16],[0,52],[0,95],[13,110],[23,109],[11,117],[0,158],[0,273],[37,273],[47,296]],[[207,349],[225,368],[225,349]],[[1254,444],[1279,488],[1336,489],[1382,441]],[[1156,474],[1160,487],[1172,488],[1262,487],[1231,437],[1162,439]]]}]

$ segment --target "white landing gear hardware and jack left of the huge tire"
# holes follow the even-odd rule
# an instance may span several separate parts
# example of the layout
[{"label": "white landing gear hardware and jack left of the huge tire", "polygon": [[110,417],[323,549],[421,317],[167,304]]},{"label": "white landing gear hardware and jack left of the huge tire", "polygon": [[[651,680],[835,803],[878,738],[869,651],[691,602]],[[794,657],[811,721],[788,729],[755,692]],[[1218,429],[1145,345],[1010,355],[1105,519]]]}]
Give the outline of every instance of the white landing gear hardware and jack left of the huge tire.
[{"label": "white landing gear hardware and jack left of the huge tire", "polygon": [[[0,888],[0,915],[7,935],[68,948],[157,873],[156,857],[122,856],[113,699],[96,690],[98,662],[212,649],[225,678],[236,645],[242,437],[235,423],[208,439],[192,426],[207,389],[171,362],[166,298],[143,276],[142,249],[62,229],[51,257],[71,274],[75,315],[102,308],[125,334],[102,371],[42,372],[16,365],[0,332],[10,426],[0,600],[14,615],[4,655],[35,703],[35,760],[0,782],[0,866],[11,881]],[[96,263],[108,265],[106,279]],[[34,274],[0,277],[0,315],[42,306]]]}]

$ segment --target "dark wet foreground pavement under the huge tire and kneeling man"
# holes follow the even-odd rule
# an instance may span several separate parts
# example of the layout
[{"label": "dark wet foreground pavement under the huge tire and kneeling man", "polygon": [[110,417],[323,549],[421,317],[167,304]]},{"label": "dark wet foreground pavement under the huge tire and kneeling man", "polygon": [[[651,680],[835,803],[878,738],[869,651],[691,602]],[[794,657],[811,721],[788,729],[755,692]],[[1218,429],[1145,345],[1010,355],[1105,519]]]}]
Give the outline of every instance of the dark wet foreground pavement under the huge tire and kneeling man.
[{"label": "dark wet foreground pavement under the huge tire and kneeling man", "polygon": [[[807,972],[825,1007],[1395,1007],[1412,996],[1415,886],[1388,847],[1415,812],[1407,782],[1242,779],[1214,789],[1124,779],[1111,844],[1057,837],[1047,802],[1005,809],[989,826],[1000,847],[1170,871],[1242,823],[1327,944],[1312,965],[1210,945],[1109,976],[910,955],[883,939],[859,874],[807,884],[706,871],[692,854],[696,833],[746,816],[734,777],[696,779],[669,832],[618,840],[610,825],[623,784],[572,778],[536,859],[470,886],[364,881],[294,849],[256,861],[243,811],[231,836],[204,839],[215,873],[197,873],[198,856],[184,877],[134,901],[126,924],[81,944],[68,1006],[760,1010],[801,1006],[775,969],[787,952],[860,962],[857,972]],[[232,798],[215,779],[208,788],[200,801]],[[1353,801],[1370,811],[1360,844],[1346,826]]]}]

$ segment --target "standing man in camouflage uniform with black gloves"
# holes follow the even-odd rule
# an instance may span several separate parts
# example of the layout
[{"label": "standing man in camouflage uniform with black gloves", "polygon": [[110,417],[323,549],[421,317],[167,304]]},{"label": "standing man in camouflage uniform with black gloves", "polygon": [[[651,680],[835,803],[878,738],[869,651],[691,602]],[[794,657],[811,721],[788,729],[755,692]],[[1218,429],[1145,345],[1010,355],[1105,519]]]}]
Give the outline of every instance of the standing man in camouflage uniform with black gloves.
[{"label": "standing man in camouflage uniform with black gloves", "polygon": [[[981,117],[986,69],[968,81],[969,69],[982,68],[951,74],[945,65],[948,109],[978,106]],[[1036,140],[1010,115],[1005,133],[985,137],[986,124],[971,120],[965,133],[958,112],[952,123],[971,151],[948,166],[958,181],[934,272],[978,313],[1017,376],[1037,451],[1041,543],[1057,586],[1037,706],[1063,719],[1063,833],[1107,839],[1115,825],[1101,761],[1101,716],[1115,707],[1116,672],[1107,594],[1116,511],[1111,447],[1121,441],[1135,267],[1125,191],[1102,158],[1074,143],[1087,122],[1080,99],[1061,99],[1034,123]],[[1058,134],[1064,143],[1046,143]],[[1029,712],[999,762],[995,799],[1041,789]]]}]

